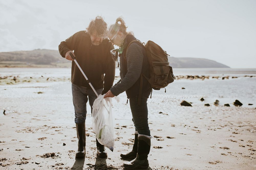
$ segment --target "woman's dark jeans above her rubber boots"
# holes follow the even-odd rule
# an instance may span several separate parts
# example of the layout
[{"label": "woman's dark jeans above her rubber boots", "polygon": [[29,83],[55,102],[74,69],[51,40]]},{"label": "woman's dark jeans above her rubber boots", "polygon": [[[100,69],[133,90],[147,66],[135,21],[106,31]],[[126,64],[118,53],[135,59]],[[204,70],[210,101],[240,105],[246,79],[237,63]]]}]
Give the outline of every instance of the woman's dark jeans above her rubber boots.
[{"label": "woman's dark jeans above her rubber boots", "polygon": [[149,88],[144,93],[142,93],[140,105],[138,105],[138,95],[129,99],[135,131],[138,131],[138,134],[147,136],[150,136],[150,130],[147,121],[147,99],[151,93],[151,90],[152,88]]}]

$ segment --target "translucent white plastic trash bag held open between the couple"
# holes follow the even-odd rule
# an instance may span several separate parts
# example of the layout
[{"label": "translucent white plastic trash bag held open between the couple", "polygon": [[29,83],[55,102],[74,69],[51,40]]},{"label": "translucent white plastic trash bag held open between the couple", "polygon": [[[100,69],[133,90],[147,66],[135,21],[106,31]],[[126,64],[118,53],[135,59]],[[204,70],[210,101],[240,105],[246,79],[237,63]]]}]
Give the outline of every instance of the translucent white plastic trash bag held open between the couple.
[{"label": "translucent white plastic trash bag held open between the couple", "polygon": [[[108,147],[112,152],[114,150],[114,122],[112,115],[112,98],[103,98],[104,95],[99,95],[95,99],[92,106],[92,130],[96,134],[101,145]],[[119,102],[118,97],[114,99]]]}]

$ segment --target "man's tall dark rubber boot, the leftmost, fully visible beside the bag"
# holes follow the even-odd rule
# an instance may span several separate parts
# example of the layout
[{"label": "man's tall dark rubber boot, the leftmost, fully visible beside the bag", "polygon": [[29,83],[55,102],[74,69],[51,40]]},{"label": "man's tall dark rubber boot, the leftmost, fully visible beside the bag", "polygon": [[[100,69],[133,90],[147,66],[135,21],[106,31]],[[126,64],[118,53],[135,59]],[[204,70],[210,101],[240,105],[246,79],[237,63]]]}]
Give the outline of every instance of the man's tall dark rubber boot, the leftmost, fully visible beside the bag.
[{"label": "man's tall dark rubber boot, the leftmost, fully visible beside the bag", "polygon": [[78,149],[76,153],[76,157],[84,157],[85,156],[85,123],[76,123],[77,127],[77,138],[78,138]]}]

